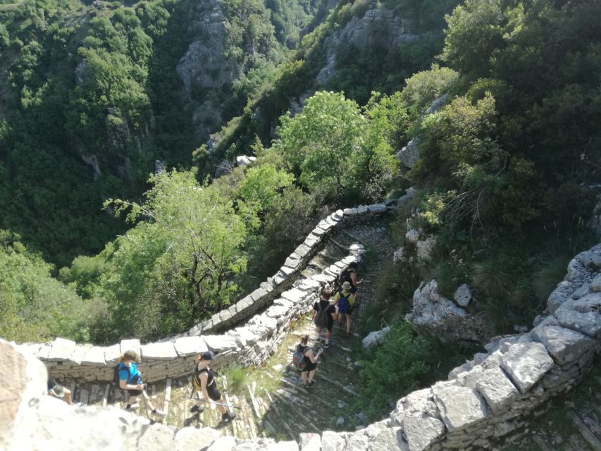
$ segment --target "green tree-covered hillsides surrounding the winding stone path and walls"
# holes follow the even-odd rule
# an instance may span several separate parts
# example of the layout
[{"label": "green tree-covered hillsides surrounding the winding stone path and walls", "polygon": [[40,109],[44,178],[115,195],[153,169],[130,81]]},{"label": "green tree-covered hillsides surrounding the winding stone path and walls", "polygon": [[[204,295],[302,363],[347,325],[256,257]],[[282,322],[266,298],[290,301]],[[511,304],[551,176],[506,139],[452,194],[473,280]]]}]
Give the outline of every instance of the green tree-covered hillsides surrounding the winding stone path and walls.
[{"label": "green tree-covered hillsides surrounding the winding stone path and walls", "polygon": [[[390,342],[406,342],[398,323],[432,278],[448,297],[469,283],[469,313],[496,333],[531,323],[595,239],[597,1],[356,0],[324,12],[328,2],[231,0],[186,22],[209,4],[31,4],[45,9],[29,19],[0,9],[1,95],[14,99],[1,112],[11,233],[0,263],[28,268],[0,276],[0,335],[179,333],[273,275],[329,211],[411,185],[418,202],[390,226],[399,247],[410,229],[433,237],[431,258],[390,262],[362,330],[396,324]],[[203,33],[218,33],[222,13],[229,47],[196,65],[190,49],[209,58]],[[410,141],[409,167],[396,155]],[[235,167],[240,154],[257,159]],[[168,171],[148,180],[156,159]],[[70,304],[44,292],[59,282],[38,250],[64,266]],[[48,315],[32,314],[36,299]],[[82,311],[76,324],[50,327],[66,309]],[[378,366],[367,378],[397,373],[385,349],[366,357]]]}]

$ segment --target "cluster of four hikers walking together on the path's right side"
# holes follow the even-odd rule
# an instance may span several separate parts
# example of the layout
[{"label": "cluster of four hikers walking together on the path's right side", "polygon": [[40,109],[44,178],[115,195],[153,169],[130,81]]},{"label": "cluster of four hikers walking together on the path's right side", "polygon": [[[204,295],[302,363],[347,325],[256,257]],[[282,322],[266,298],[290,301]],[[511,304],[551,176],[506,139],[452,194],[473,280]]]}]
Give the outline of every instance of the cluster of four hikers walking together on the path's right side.
[{"label": "cluster of four hikers walking together on the path's right side", "polygon": [[332,342],[332,330],[335,321],[340,327],[345,328],[348,337],[351,330],[352,312],[357,307],[357,286],[361,284],[357,280],[357,263],[352,262],[340,273],[335,289],[324,288],[321,290],[319,300],[313,305],[313,321],[315,323],[315,342],[321,338],[321,332],[326,329],[326,342],[323,347],[314,354],[313,348],[309,347],[309,335],[304,335],[295,349],[292,363],[301,371],[301,379],[304,388],[310,388],[314,384],[317,371],[317,360],[324,349],[330,347]]}]

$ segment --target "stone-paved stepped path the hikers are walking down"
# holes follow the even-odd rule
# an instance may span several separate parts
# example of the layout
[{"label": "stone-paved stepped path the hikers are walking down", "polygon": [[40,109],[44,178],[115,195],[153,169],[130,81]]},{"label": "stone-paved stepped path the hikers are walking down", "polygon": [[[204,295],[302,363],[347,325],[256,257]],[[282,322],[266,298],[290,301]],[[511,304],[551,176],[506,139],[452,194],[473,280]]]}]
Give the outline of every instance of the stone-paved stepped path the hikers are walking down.
[{"label": "stone-paved stepped path the hikers are walking down", "polygon": [[[309,277],[321,272],[335,261],[348,254],[349,245],[361,242],[366,247],[368,259],[359,266],[359,278],[375,280],[376,274],[385,261],[392,259],[392,245],[385,221],[371,221],[362,225],[348,226],[324,245],[302,275]],[[365,283],[361,288],[359,308],[354,312],[354,320],[361,315],[375,294],[375,287]],[[292,354],[300,336],[314,335],[314,325],[310,314],[297,321],[287,333],[284,342],[267,362],[258,369],[247,369],[244,383],[233,381],[232,371],[218,371],[218,387],[224,394],[225,402],[233,404],[237,417],[228,424],[221,424],[221,414],[214,404],[209,404],[202,414],[190,413],[194,401],[192,376],[167,379],[151,383],[148,393],[151,402],[158,409],[168,412],[165,419],[157,419],[181,428],[183,426],[211,426],[221,428],[224,435],[238,438],[275,437],[282,440],[298,440],[299,433],[319,432],[326,429],[342,430],[357,424],[357,419],[349,412],[349,404],[357,397],[357,366],[354,364],[354,349],[361,346],[361,337],[354,333],[347,338],[345,330],[335,326],[333,344],[324,352],[318,364],[316,383],[308,390],[302,385],[300,374],[292,368]],[[315,350],[323,345],[325,333],[316,342],[311,338],[309,344]],[[192,373],[192,369],[190,369]],[[237,371],[240,373],[240,370]],[[66,384],[68,385],[68,383]],[[235,385],[235,386],[234,386]],[[82,404],[119,404],[125,406],[120,390],[112,384],[71,383],[75,402]],[[138,410],[146,415],[144,405]],[[152,414],[149,413],[151,419]]]}]

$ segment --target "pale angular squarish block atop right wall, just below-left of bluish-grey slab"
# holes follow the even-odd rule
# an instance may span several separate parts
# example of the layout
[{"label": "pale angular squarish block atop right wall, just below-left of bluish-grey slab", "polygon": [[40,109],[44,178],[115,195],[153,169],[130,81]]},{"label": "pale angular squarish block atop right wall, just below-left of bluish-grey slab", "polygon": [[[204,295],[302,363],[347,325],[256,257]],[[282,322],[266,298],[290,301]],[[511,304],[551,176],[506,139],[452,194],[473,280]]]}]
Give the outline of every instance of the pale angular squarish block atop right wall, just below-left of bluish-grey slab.
[{"label": "pale angular squarish block atop right wall, just below-left of bluish-grey slab", "polygon": [[501,357],[500,365],[520,390],[526,393],[552,369],[553,359],[540,343],[516,343]]}]

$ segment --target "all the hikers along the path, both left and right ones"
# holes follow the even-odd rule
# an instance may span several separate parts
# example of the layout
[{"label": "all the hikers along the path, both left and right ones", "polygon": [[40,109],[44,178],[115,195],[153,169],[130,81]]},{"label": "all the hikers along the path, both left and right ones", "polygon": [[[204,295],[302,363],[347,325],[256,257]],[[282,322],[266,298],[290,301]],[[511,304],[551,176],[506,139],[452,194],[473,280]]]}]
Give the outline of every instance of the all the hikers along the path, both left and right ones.
[{"label": "all the hikers along the path, both left and right ones", "polygon": [[[317,369],[317,359],[320,357],[324,348],[328,348],[331,343],[332,329],[335,321],[339,321],[341,327],[346,326],[346,334],[349,336],[351,328],[351,314],[357,305],[357,263],[351,263],[340,273],[337,280],[338,287],[335,290],[325,288],[321,291],[318,302],[313,306],[313,321],[316,326],[315,340],[318,342],[321,331],[326,329],[325,345],[314,354],[313,349],[309,347],[309,335],[304,335],[297,345],[293,363],[301,371],[302,383],[305,388],[313,385]],[[196,402],[190,409],[194,414],[200,414],[204,411],[203,402],[212,402],[216,404],[218,412],[221,413],[223,422],[231,421],[236,414],[226,407],[232,407],[222,401],[221,393],[217,388],[215,373],[211,369],[211,362],[215,360],[212,352],[206,351],[197,354],[194,364],[192,379],[192,397],[196,395]],[[140,397],[144,402],[144,407],[148,412],[158,417],[166,416],[166,412],[156,409],[151,403],[149,395],[146,393],[146,384],[142,381],[142,373],[137,369],[136,362],[140,362],[140,356],[134,350],[126,351],[121,357],[120,362],[114,369],[113,382],[118,388],[124,390],[128,395],[128,402],[125,404],[125,410],[135,411],[140,407],[137,401]],[[58,385],[54,378],[49,376],[48,394],[54,397],[63,398],[68,404],[72,403],[70,390]]]}]

